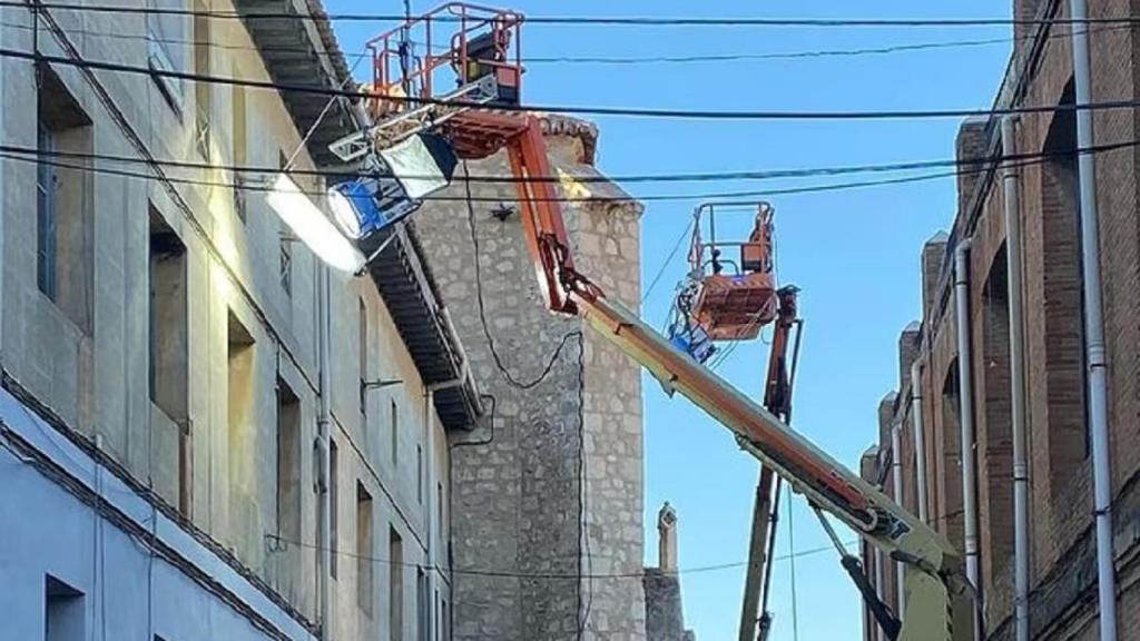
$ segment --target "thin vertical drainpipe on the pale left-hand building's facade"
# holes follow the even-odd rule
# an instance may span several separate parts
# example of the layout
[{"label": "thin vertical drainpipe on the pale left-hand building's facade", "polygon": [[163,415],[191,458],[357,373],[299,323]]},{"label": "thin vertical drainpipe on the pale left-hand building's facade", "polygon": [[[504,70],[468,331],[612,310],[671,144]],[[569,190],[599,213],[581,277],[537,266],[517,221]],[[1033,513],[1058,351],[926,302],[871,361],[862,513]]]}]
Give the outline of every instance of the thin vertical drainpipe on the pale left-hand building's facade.
[{"label": "thin vertical drainpipe on the pale left-hand building's facade", "polygon": [[329,292],[328,267],[321,266],[317,274],[317,367],[320,370],[320,397],[317,399],[317,492],[320,502],[319,541],[317,542],[317,559],[319,576],[317,578],[317,592],[320,601],[320,639],[328,641],[332,639],[332,593],[328,590],[328,577],[333,565],[333,521],[332,505],[329,503],[328,479],[328,430],[332,422],[332,399],[329,395],[333,389],[333,373],[329,365],[332,314],[332,295]]}]

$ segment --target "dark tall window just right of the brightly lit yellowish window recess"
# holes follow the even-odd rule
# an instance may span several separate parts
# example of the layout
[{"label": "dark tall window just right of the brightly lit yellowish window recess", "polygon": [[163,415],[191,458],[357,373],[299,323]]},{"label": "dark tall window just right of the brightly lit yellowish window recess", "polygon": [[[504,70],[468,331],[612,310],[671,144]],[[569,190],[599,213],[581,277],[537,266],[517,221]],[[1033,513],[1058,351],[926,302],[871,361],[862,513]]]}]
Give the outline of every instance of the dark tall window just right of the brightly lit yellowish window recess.
[{"label": "dark tall window just right of the brightly lit yellowish window recess", "polygon": [[277,536],[301,542],[301,400],[277,379]]}]

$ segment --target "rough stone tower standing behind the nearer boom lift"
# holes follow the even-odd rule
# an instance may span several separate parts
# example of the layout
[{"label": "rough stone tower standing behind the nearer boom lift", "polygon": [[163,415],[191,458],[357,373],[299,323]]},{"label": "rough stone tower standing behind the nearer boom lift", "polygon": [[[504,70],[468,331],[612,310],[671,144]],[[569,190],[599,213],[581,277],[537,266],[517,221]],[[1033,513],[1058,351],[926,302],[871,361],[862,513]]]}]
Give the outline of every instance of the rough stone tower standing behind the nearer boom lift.
[{"label": "rough stone tower standing behind the nearer boom lift", "polygon": [[[544,130],[561,193],[598,198],[564,206],[578,268],[636,308],[641,206],[596,181],[594,125],[552,115]],[[545,309],[515,187],[465,171],[511,176],[505,153],[470,162],[416,214],[494,414],[453,439],[455,636],[643,639],[638,367]]]}]

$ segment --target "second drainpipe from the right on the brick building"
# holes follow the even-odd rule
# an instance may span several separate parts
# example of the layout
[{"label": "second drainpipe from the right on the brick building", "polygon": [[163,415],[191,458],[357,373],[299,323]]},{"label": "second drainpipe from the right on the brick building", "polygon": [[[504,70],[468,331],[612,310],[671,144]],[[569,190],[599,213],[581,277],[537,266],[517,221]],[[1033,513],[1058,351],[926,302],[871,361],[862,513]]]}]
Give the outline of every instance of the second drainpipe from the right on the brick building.
[{"label": "second drainpipe from the right on the brick building", "polygon": [[[1001,121],[1002,156],[1017,153],[1016,119]],[[1013,431],[1013,611],[1017,641],[1029,641],[1029,462],[1025,429],[1025,316],[1021,307],[1021,217],[1018,175],[1004,162],[1005,260],[1009,283],[1009,372]]]}]

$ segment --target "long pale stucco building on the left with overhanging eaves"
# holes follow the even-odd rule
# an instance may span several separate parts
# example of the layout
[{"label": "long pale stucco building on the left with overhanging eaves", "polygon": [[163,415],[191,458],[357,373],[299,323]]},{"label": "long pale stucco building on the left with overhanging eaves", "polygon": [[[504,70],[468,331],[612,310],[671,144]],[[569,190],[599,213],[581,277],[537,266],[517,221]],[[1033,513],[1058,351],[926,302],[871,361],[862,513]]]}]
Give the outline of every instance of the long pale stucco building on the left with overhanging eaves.
[{"label": "long pale stucco building on the left with overhanging eaves", "polygon": [[447,639],[480,404],[415,232],[327,276],[263,187],[351,106],[163,74],[342,87],[331,26],[157,6],[299,18],[0,8],[0,639]]}]

